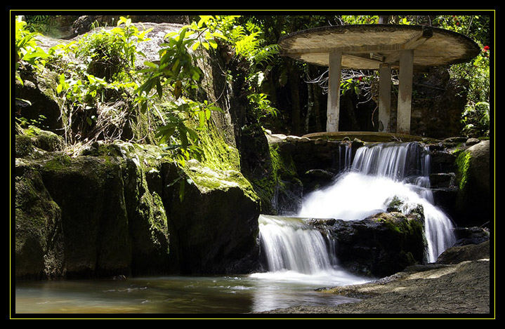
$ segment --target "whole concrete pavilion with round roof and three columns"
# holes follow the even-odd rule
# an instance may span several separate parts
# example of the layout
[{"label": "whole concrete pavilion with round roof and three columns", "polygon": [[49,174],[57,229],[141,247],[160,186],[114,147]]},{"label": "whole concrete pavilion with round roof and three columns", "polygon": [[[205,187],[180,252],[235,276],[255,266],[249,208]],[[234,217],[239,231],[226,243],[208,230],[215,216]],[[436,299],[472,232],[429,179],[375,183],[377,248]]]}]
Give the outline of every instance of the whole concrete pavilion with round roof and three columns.
[{"label": "whole concrete pavilion with round roof and three columns", "polygon": [[475,41],[422,25],[339,25],[294,32],[279,40],[282,55],[329,67],[327,133],[339,131],[341,69],[379,70],[379,132],[389,131],[391,69],[399,69],[396,133],[410,133],[412,76],[427,67],[468,62]]}]

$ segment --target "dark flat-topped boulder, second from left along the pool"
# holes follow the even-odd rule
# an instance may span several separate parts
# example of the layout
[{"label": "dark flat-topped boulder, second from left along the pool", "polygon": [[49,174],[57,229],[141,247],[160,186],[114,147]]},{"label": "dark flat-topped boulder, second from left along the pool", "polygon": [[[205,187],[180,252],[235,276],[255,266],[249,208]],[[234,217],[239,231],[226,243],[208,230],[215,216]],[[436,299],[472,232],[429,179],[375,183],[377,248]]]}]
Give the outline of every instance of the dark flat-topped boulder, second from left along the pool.
[{"label": "dark flat-topped boulder, second from left along the pool", "polygon": [[40,170],[62,212],[66,276],[128,273],[131,245],[121,163],[60,155],[44,161]]}]

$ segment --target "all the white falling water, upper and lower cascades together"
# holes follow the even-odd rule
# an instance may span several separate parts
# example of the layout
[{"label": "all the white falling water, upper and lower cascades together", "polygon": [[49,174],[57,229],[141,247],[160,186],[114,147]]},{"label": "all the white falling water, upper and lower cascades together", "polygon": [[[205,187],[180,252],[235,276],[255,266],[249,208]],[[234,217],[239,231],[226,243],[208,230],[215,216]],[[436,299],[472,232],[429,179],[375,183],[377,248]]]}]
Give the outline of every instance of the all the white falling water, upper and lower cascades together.
[{"label": "all the white falling water, upper and lower cascades together", "polygon": [[352,163],[350,156],[349,146],[339,149],[343,172],[331,186],[306,196],[296,217],[259,217],[268,272],[252,277],[326,286],[369,281],[341,269],[334,240],[311,228],[304,218],[363,220],[386,211],[395,196],[403,201],[402,213],[423,206],[428,262],[435,262],[454,244],[451,220],[433,205],[426,148],[417,143],[382,143],[360,147]]}]

